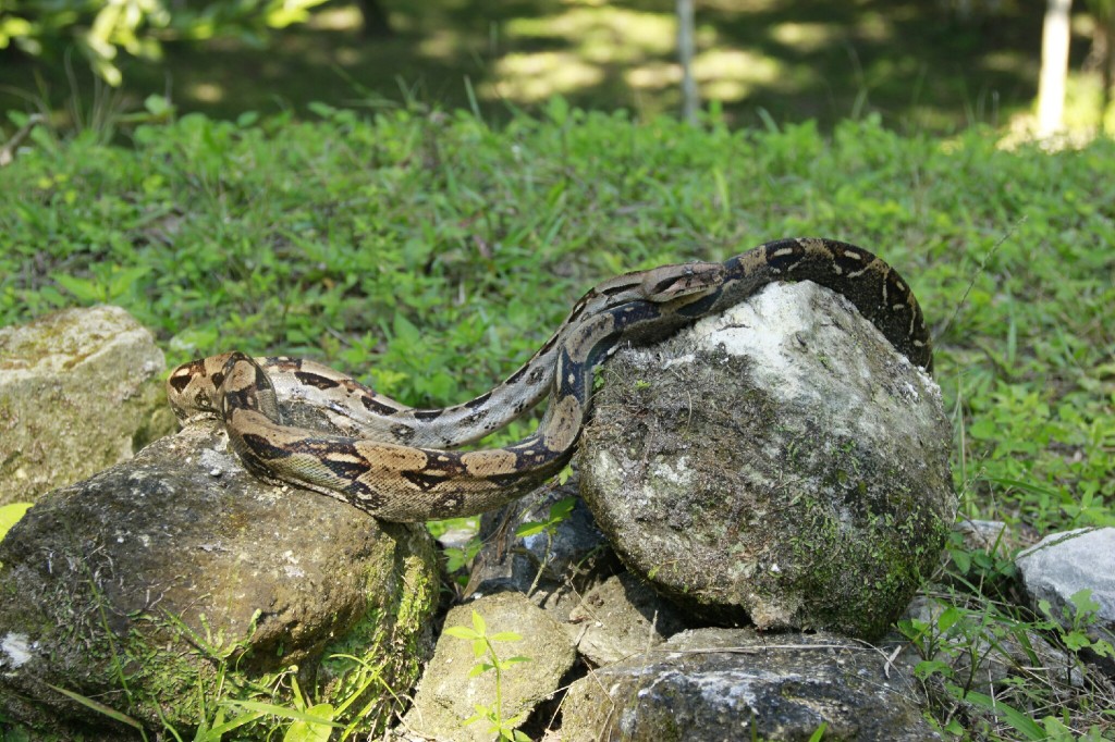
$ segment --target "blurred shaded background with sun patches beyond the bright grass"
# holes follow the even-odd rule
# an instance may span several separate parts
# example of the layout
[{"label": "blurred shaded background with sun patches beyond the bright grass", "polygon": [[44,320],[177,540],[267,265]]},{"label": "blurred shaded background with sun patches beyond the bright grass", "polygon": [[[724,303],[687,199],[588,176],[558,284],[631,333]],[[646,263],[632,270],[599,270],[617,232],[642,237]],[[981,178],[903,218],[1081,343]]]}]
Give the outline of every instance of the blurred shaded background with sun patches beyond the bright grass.
[{"label": "blurred shaded background with sun patches beyond the bright grass", "polygon": [[[1113,6],[1072,8],[1076,129],[1111,107]],[[735,126],[830,130],[874,113],[900,130],[1018,128],[1045,12],[1045,0],[700,0],[692,69]],[[158,95],[219,118],[321,100],[500,121],[560,94],[649,117],[681,106],[676,13],[675,0],[0,0],[0,109],[83,126]]]}]

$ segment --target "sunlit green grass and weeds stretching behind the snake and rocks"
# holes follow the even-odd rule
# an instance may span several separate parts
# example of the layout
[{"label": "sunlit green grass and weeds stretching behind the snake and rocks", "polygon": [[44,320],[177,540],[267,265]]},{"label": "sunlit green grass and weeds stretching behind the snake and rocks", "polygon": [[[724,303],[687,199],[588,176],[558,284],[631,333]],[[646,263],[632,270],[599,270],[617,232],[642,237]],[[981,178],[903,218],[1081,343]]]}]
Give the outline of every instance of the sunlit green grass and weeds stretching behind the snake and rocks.
[{"label": "sunlit green grass and weeds stretching behind the snake and rocks", "polygon": [[[618,272],[824,235],[880,253],[920,299],[963,514],[1040,533],[1115,525],[1112,140],[1007,152],[987,130],[902,136],[875,117],[831,137],[812,123],[733,130],[715,113],[691,128],[560,99],[502,129],[467,113],[313,110],[122,127],[126,147],[35,129],[0,168],[0,325],[110,301],[171,364],[293,353],[440,406],[510,373]],[[1009,566],[958,554],[946,598],[962,621],[934,631],[1041,628],[1004,607]],[[1027,739],[1065,713],[1111,733],[1083,692],[1019,691],[1038,726],[1018,731],[975,695],[958,712],[943,671],[925,675],[942,726]]]}]

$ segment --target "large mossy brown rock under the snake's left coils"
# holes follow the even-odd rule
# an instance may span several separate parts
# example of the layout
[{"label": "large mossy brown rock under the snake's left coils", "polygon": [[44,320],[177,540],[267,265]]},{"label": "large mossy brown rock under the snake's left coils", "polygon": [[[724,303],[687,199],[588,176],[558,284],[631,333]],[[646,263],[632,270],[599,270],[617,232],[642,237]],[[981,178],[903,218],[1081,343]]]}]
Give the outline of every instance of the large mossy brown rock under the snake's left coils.
[{"label": "large mossy brown rock under the snake's left coils", "polygon": [[424,529],[263,485],[205,424],[45,495],[0,541],[0,715],[66,739],[108,720],[50,685],[181,736],[203,704],[212,721],[216,697],[271,702],[292,665],[303,687],[346,697],[334,654],[404,694],[438,589]]}]

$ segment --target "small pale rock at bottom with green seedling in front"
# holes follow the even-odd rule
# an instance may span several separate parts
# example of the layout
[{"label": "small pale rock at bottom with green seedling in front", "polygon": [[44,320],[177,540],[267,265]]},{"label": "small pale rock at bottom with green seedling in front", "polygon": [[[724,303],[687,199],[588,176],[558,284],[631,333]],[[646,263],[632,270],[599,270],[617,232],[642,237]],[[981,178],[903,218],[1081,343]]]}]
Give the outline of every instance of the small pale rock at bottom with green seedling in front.
[{"label": "small pale rock at bottom with green seedling in front", "polygon": [[484,621],[488,636],[513,632],[522,637],[516,642],[494,643],[501,660],[525,656],[530,661],[504,670],[497,691],[493,671],[471,676],[477,662],[487,662],[474,655],[473,642],[443,633],[418,685],[415,704],[404,719],[405,726],[421,735],[420,739],[462,742],[497,739],[488,731],[491,724],[486,720],[464,723],[476,714],[476,706],[493,709],[498,693],[504,720],[520,714],[525,719],[540,701],[561,686],[562,677],[576,658],[565,627],[524,595],[500,593],[457,606],[446,616],[446,628],[472,628],[473,611]]}]

